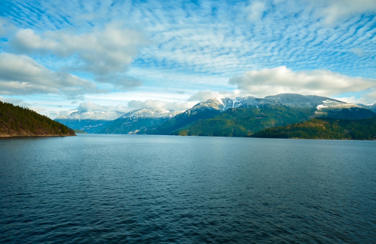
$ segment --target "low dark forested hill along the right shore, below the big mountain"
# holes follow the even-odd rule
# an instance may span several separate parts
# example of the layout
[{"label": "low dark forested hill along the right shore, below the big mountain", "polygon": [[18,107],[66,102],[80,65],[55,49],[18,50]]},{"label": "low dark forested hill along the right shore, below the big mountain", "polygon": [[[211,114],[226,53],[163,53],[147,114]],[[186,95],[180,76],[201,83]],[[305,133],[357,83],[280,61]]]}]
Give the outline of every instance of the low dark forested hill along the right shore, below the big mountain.
[{"label": "low dark forested hill along the right shore, below the big mountain", "polygon": [[251,137],[376,140],[376,117],[363,119],[314,118],[253,133]]}]

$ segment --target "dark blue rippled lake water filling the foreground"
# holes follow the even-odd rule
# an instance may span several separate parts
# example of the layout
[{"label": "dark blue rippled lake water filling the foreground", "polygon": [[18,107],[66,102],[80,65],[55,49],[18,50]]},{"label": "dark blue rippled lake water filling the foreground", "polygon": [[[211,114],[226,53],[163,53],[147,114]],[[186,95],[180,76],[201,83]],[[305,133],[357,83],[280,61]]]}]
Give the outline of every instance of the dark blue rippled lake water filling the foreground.
[{"label": "dark blue rippled lake water filling the foreground", "polygon": [[376,141],[0,138],[1,243],[375,243]]}]

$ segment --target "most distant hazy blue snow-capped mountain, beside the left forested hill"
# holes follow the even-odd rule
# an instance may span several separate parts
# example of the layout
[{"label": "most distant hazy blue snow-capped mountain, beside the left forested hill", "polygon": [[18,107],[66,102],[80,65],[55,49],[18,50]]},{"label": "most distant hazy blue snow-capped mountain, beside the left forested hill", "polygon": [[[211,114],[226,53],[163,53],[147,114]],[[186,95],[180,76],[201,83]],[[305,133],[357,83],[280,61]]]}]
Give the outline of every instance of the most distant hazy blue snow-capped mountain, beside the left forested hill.
[{"label": "most distant hazy blue snow-capped mountain, beside the left forested hill", "polygon": [[88,133],[95,133],[103,127],[108,121],[119,118],[122,113],[103,112],[103,111],[76,111],[69,116],[60,115],[54,120],[73,129],[80,129]]}]

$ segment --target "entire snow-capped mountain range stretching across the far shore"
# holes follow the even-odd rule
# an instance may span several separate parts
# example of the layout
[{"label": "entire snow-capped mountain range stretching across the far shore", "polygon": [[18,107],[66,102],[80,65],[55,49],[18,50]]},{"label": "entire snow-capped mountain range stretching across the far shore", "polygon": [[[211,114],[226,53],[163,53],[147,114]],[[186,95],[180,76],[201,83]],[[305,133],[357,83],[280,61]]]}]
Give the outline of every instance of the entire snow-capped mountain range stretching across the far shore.
[{"label": "entire snow-capped mountain range stretching across the far shore", "polygon": [[88,133],[249,136],[265,128],[315,117],[360,119],[376,117],[375,112],[375,105],[355,105],[315,95],[278,94],[263,99],[209,99],[182,111],[141,108],[124,115],[77,111],[55,120]]}]

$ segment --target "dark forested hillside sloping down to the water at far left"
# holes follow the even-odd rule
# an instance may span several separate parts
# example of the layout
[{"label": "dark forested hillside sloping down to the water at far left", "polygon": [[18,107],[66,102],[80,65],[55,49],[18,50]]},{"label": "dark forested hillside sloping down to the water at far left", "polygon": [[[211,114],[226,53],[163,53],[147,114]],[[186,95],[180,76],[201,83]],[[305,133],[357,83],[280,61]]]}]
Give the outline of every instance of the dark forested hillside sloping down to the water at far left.
[{"label": "dark forested hillside sloping down to the water at far left", "polygon": [[75,133],[64,124],[51,120],[29,108],[0,101],[0,135],[63,136],[75,135]]}]

